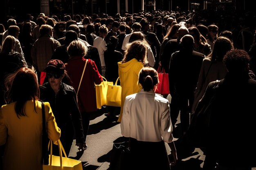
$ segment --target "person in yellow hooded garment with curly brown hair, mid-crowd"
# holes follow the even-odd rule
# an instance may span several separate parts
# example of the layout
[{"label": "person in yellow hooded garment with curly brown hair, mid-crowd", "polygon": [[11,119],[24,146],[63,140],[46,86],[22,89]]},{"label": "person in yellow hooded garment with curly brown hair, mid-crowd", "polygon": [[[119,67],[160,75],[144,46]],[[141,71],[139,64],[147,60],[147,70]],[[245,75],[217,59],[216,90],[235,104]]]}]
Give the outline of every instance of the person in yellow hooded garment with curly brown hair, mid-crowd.
[{"label": "person in yellow hooded garment with curly brown hair, mid-crowd", "polygon": [[121,122],[122,119],[126,96],[138,93],[141,90],[141,86],[138,84],[139,71],[148,63],[147,50],[144,42],[134,41],[127,45],[123,61],[118,62],[118,74],[122,87],[121,112],[118,122]]}]

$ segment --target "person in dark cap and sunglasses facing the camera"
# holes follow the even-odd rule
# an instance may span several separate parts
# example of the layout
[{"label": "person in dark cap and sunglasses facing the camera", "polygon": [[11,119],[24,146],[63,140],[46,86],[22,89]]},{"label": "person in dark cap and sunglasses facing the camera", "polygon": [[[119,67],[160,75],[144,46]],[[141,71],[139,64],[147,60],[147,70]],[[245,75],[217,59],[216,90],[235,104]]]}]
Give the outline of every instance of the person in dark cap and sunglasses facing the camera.
[{"label": "person in dark cap and sunglasses facing the camera", "polygon": [[[49,102],[54,113],[56,123],[61,129],[61,142],[68,155],[72,146],[74,130],[76,146],[80,151],[87,148],[85,143],[82,118],[76,103],[76,92],[72,86],[61,80],[68,76],[65,64],[61,60],[50,60],[45,68],[48,82],[40,86],[40,99]],[[74,128],[73,128],[74,125]],[[59,155],[58,146],[54,146],[53,155]]]}]

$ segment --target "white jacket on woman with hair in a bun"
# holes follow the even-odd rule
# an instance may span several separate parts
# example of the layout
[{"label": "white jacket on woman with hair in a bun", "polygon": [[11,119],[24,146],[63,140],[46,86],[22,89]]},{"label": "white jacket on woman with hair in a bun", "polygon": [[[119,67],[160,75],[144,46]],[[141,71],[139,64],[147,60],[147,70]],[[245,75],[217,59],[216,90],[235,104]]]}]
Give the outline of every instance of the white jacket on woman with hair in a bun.
[{"label": "white jacket on woman with hair in a bun", "polygon": [[167,99],[141,89],[124,102],[121,133],[138,141],[173,141],[173,126]]}]

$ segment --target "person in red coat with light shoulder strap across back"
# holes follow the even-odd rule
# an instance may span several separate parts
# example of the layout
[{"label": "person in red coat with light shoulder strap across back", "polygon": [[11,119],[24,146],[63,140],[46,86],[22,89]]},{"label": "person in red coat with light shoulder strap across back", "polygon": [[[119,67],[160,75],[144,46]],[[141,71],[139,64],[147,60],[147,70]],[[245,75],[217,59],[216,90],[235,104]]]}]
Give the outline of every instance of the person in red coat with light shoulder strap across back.
[{"label": "person in red coat with light shoulder strap across back", "polygon": [[[67,74],[69,75],[72,86],[77,94],[85,140],[89,129],[90,114],[97,111],[94,83],[101,84],[102,82],[102,77],[94,61],[84,58],[87,51],[88,48],[82,41],[72,41],[67,47],[67,53],[70,55],[70,60],[66,65]],[[85,71],[83,73],[84,67]]]}]

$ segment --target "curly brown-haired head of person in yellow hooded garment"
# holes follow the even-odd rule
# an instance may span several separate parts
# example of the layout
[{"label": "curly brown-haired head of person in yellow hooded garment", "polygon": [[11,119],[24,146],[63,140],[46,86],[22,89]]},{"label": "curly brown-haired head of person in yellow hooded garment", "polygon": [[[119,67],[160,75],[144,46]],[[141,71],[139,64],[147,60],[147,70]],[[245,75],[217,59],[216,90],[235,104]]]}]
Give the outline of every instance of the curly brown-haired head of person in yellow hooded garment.
[{"label": "curly brown-haired head of person in yellow hooded garment", "polygon": [[126,51],[124,51],[123,63],[136,58],[139,62],[146,64],[147,61],[148,48],[146,44],[142,41],[134,41],[128,43]]}]

